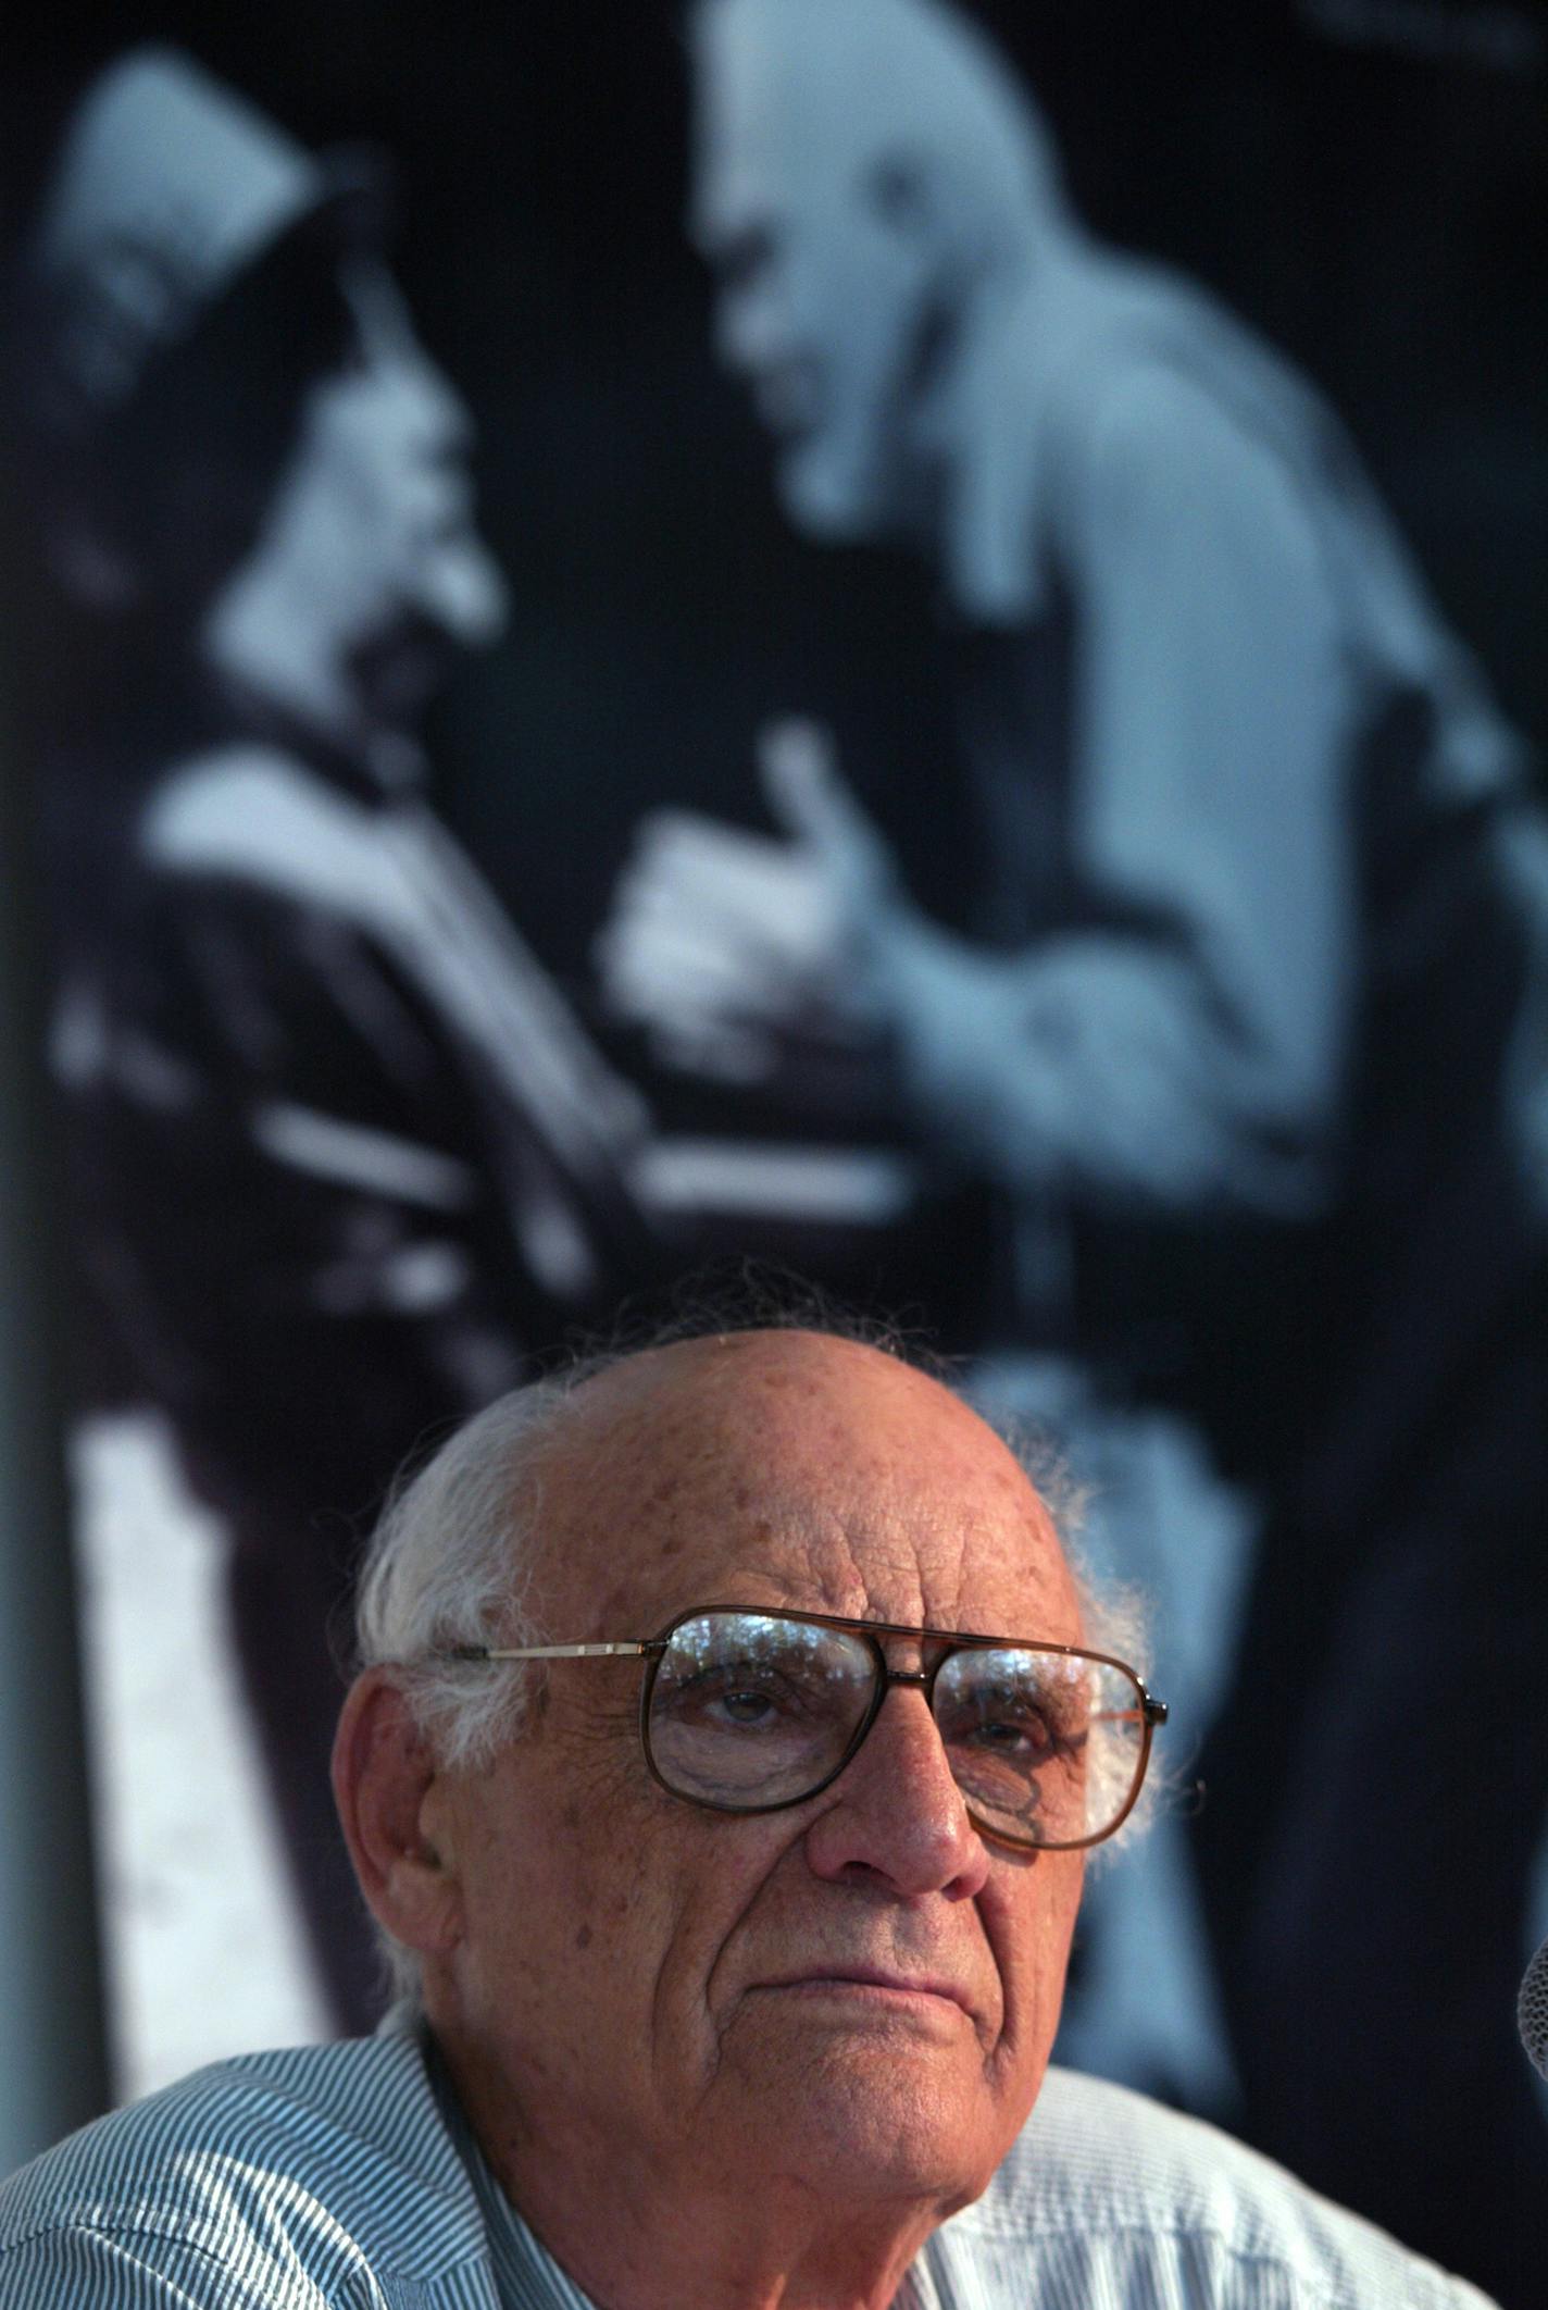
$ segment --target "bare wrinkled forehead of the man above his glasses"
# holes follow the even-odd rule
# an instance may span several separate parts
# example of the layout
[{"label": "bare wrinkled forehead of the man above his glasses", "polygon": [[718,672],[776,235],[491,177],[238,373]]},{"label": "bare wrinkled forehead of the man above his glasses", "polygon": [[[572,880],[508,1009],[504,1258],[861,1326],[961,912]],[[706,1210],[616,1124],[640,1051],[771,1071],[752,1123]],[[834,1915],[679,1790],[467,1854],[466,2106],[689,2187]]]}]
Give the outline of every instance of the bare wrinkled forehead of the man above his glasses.
[{"label": "bare wrinkled forehead of the man above his glasses", "polygon": [[561,1635],[645,1635],[716,1601],[1079,1635],[1012,1453],[947,1388],[848,1340],[631,1358],[573,1400],[541,1481],[541,1610],[582,1615]]}]

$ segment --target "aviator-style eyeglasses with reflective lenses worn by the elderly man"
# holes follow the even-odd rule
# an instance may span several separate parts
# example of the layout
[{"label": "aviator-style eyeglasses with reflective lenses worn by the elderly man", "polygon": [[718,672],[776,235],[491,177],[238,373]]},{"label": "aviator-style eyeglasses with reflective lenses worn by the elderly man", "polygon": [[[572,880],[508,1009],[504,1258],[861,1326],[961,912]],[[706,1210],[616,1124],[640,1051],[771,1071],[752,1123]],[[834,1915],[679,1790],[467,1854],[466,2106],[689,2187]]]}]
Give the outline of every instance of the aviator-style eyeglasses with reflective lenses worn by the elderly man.
[{"label": "aviator-style eyeglasses with reflective lenses worn by the elderly man", "polygon": [[[885,1635],[945,1647],[890,1668]],[[936,1719],[968,1818],[1007,1846],[1065,1853],[1127,1820],[1167,1702],[1123,1661],[1074,1645],[957,1635],[825,1612],[700,1605],[612,1645],[457,1645],[455,1661],[638,1656],[656,1781],[716,1813],[779,1813],[839,1779],[894,1684]]]}]

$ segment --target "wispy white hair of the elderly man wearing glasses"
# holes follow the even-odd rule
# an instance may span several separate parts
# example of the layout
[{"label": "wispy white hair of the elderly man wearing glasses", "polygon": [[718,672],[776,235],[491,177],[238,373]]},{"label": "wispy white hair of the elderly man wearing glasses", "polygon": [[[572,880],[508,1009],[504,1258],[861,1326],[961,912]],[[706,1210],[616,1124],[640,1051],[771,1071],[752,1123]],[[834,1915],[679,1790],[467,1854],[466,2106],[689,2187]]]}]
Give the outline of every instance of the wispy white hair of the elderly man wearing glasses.
[{"label": "wispy white hair of the elderly man wearing glasses", "polygon": [[[356,1652],[360,1668],[393,1672],[439,1769],[488,1767],[522,1732],[531,1693],[545,1675],[541,1663],[490,1668],[457,1661],[451,1659],[455,1647],[543,1645],[573,1635],[541,1629],[527,1596],[541,1541],[543,1460],[587,1381],[675,1340],[739,1328],[799,1328],[873,1347],[952,1388],[945,1368],[915,1351],[890,1326],[832,1314],[823,1319],[818,1303],[753,1312],[753,1326],[746,1319],[723,1324],[712,1312],[709,1324],[691,1317],[645,1342],[575,1358],[564,1370],[501,1395],[416,1474],[400,1478],[365,1552],[356,1592]],[[1077,1585],[1084,1642],[1127,1661],[1144,1677],[1144,1601],[1134,1589],[1091,1578],[1079,1545],[1084,1499],[1058,1453],[1047,1437],[1021,1423],[987,1418],[987,1425],[1005,1441],[1049,1508]],[[1146,1811],[1141,1795],[1141,1804],[1109,1843],[1127,1841]],[[423,2000],[418,1952],[384,1927],[377,1938],[393,1998],[416,2007]]]}]

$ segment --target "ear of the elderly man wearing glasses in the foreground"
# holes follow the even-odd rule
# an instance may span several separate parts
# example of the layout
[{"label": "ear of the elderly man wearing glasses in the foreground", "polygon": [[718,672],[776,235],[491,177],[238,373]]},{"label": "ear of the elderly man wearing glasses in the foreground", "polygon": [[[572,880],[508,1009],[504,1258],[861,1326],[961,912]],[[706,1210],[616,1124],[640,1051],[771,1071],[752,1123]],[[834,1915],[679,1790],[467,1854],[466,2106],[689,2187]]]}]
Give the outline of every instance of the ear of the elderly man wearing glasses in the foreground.
[{"label": "ear of the elderly man wearing glasses in the foreground", "polygon": [[372,1917],[421,1957],[462,1938],[457,1878],[427,1834],[439,1779],[390,1670],[367,1668],[340,1716],[333,1795]]}]

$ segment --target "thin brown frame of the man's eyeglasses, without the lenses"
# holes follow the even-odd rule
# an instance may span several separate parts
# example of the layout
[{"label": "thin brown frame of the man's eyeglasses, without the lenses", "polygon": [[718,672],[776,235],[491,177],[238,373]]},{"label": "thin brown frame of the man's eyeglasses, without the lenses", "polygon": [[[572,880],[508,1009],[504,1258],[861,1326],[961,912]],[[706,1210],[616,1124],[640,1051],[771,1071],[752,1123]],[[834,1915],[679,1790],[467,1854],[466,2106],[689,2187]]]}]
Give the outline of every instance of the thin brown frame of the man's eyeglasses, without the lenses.
[{"label": "thin brown frame of the man's eyeglasses, without the lenses", "polygon": [[[698,1795],[691,1795],[689,1790],[675,1788],[668,1781],[668,1776],[661,1772],[661,1767],[656,1765],[656,1756],[654,1756],[652,1737],[649,1737],[649,1707],[652,1707],[652,1693],[656,1691],[656,1675],[661,1670],[661,1661],[665,1659],[668,1645],[672,1642],[675,1633],[686,1622],[691,1622],[691,1619],[705,1619],[712,1612],[730,1612],[730,1615],[737,1615],[737,1617],[756,1617],[756,1619],[790,1619],[790,1622],[797,1622],[804,1629],[839,1629],[846,1635],[862,1638],[866,1642],[869,1652],[871,1652],[871,1661],[876,1663],[876,1682],[873,1682],[871,1700],[866,1702],[866,1709],[864,1709],[859,1723],[855,1726],[855,1732],[850,1735],[850,1742],[848,1742],[843,1756],[839,1758],[839,1763],[832,1767],[832,1772],[825,1772],[823,1779],[813,1788],[804,1788],[799,1797],[776,1797],[772,1804],[716,1804],[709,1797],[698,1797]],[[883,1645],[880,1645],[880,1640],[885,1635],[908,1635],[908,1638],[915,1638],[920,1645],[945,1645],[945,1652],[940,1654],[940,1659],[936,1661],[933,1668],[892,1668],[890,1661],[887,1661],[887,1654],[883,1652]],[[1060,1654],[1067,1661],[1097,1661],[1102,1668],[1116,1668],[1123,1677],[1127,1677],[1130,1684],[1134,1686],[1134,1691],[1139,1693],[1139,1721],[1141,1721],[1141,1728],[1144,1728],[1141,1744],[1139,1744],[1139,1765],[1134,1767],[1134,1781],[1132,1781],[1130,1793],[1127,1793],[1127,1797],[1123,1802],[1123,1811],[1116,1816],[1116,1820],[1109,1820],[1109,1825],[1104,1830],[1097,1830],[1095,1836],[1063,1836],[1063,1839],[1035,1839],[1035,1836],[1026,1836],[1024,1839],[1024,1836],[1010,1836],[1005,1830],[991,1827],[989,1823],[980,1820],[970,1804],[968,1804],[968,1820],[980,1832],[980,1836],[991,1836],[996,1843],[1012,1846],[1017,1853],[1077,1853],[1077,1850],[1081,1850],[1086,1846],[1100,1846],[1109,1836],[1114,1836],[1123,1827],[1123,1823],[1130,1818],[1130,1813],[1134,1811],[1134,1804],[1139,1802],[1139,1790],[1144,1788],[1144,1779],[1146,1779],[1146,1772],[1148,1772],[1148,1765],[1151,1765],[1151,1739],[1155,1737],[1155,1728],[1167,1723],[1167,1702],[1158,1700],[1148,1691],[1144,1677],[1134,1668],[1130,1668],[1127,1661],[1121,1661],[1111,1652],[1088,1652],[1086,1645],[1054,1645],[1047,1638],[1026,1638],[1026,1635],[961,1635],[954,1629],[910,1629],[906,1622],[894,1622],[894,1619],[841,1619],[834,1612],[786,1612],[779,1605],[695,1603],[686,1612],[677,1612],[665,1624],[665,1629],[658,1635],[631,1635],[631,1638],[622,1638],[622,1640],[608,1642],[608,1645],[603,1645],[603,1642],[596,1642],[596,1645],[453,1645],[453,1647],[448,1647],[441,1654],[441,1659],[448,1659],[448,1661],[601,1661],[601,1659],[642,1659],[642,1661],[647,1661],[647,1668],[645,1668],[645,1682],[640,1686],[640,1746],[645,1749],[645,1763],[649,1767],[652,1779],[661,1788],[665,1788],[665,1793],[670,1797],[677,1797],[679,1804],[700,1804],[709,1813],[786,1813],[792,1806],[806,1804],[811,1797],[823,1795],[825,1788],[832,1788],[832,1783],[839,1779],[839,1774],[846,1769],[846,1765],[853,1765],[855,1756],[859,1753],[859,1749],[862,1749],[862,1744],[866,1739],[866,1732],[871,1730],[871,1726],[880,1716],[883,1702],[885,1702],[885,1698],[887,1698],[887,1693],[892,1691],[894,1684],[917,1686],[924,1693],[924,1700],[929,1705],[931,1721],[933,1721],[933,1716],[936,1716],[936,1677],[940,1675],[940,1670],[945,1668],[945,1663],[952,1659],[952,1654],[954,1652],[1005,1652],[1005,1649],[1014,1649],[1014,1652],[1051,1652],[1051,1654]],[[963,1804],[966,1804],[966,1790],[963,1790]]]}]

